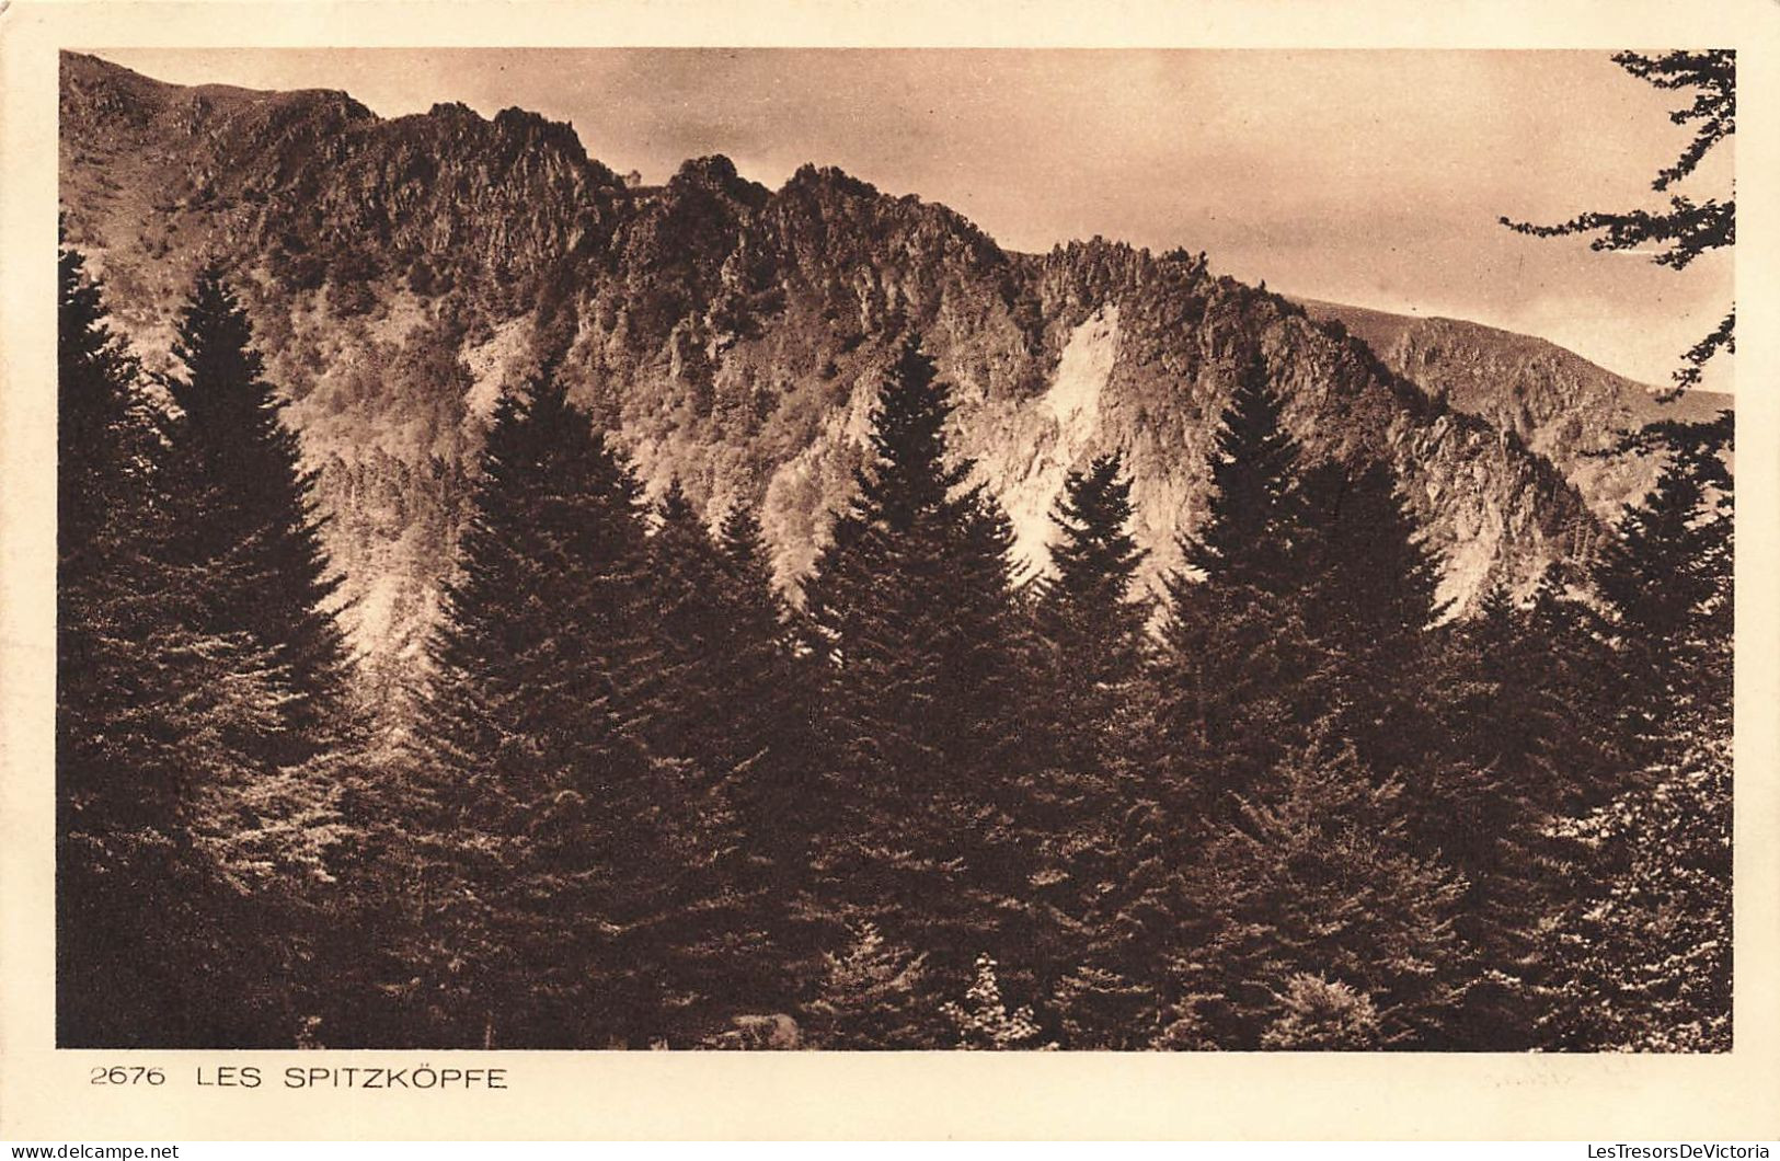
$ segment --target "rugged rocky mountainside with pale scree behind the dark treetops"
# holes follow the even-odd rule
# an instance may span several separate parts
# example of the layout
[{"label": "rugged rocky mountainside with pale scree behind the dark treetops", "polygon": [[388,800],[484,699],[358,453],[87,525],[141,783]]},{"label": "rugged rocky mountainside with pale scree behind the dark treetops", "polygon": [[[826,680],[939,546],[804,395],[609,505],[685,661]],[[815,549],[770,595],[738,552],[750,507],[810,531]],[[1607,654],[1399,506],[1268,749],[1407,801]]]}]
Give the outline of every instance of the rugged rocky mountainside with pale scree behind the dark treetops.
[{"label": "rugged rocky mountainside with pale scree behind the dark treetops", "polygon": [[1600,536],[1607,493],[1579,491],[1595,481],[1574,452],[1606,438],[1604,413],[1536,392],[1536,360],[1508,345],[1428,333],[1381,361],[1203,255],[1098,239],[1009,253],[945,207],[835,169],[767,191],[710,157],[644,187],[536,114],[384,121],[340,93],[185,89],[69,53],[62,203],[150,367],[198,265],[237,271],[320,470],[374,671],[415,657],[482,424],[545,358],[651,491],[678,477],[710,518],[762,506],[789,588],[851,490],[902,326],[954,385],[952,445],[1032,568],[1064,472],[1112,449],[1150,568],[1178,564],[1253,351],[1312,458],[1401,472],[1460,607],[1495,579],[1527,589]]}]

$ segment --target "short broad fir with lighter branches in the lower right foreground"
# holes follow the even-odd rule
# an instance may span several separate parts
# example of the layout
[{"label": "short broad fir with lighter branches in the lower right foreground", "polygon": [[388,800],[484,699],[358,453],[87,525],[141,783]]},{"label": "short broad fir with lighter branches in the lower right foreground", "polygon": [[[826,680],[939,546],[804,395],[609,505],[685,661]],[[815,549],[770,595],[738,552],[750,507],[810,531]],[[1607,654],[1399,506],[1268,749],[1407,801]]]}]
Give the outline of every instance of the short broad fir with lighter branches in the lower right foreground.
[{"label": "short broad fir with lighter branches in the lower right foreground", "polygon": [[[1180,933],[1169,1047],[1262,1047],[1301,974],[1376,1008],[1378,1043],[1442,1043],[1463,1001],[1452,931],[1465,883],[1415,853],[1396,782],[1319,743],[1273,767],[1193,864],[1200,910]],[[1280,1033],[1274,1031],[1278,1036]]]}]

